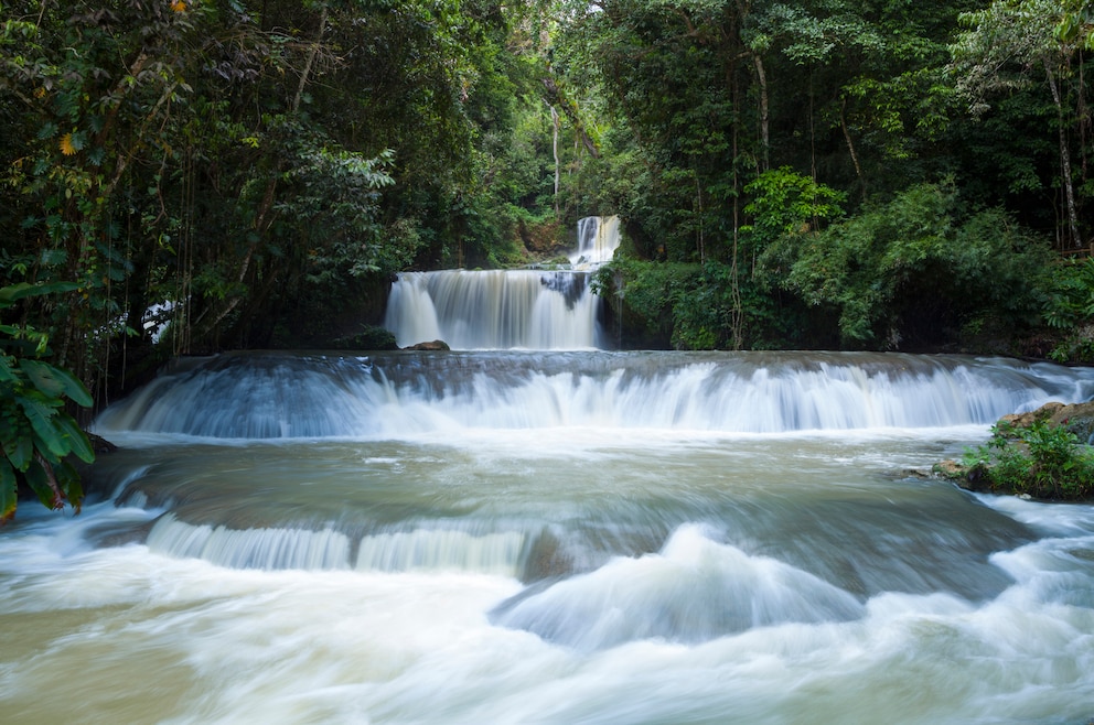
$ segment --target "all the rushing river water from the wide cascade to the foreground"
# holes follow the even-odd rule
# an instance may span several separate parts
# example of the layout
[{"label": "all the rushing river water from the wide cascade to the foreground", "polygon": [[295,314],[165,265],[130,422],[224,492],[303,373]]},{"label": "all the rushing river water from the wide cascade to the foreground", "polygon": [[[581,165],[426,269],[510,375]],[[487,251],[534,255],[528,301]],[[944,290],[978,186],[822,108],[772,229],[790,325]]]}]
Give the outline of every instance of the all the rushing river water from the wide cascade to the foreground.
[{"label": "all the rushing river water from the wide cascade to the foreground", "polygon": [[0,532],[4,723],[1076,723],[1094,507],[914,468],[1094,371],[250,354]]}]

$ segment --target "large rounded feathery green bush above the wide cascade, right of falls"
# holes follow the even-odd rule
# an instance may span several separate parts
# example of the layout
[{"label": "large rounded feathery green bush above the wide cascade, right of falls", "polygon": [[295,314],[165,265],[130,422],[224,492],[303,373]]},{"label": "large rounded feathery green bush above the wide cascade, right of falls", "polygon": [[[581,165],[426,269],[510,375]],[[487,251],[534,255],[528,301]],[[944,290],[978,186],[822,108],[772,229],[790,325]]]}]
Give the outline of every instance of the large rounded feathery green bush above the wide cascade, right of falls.
[{"label": "large rounded feathery green bush above the wide cascade, right of falls", "polygon": [[838,315],[845,345],[944,338],[977,315],[1036,322],[1048,250],[998,209],[967,214],[952,182],[920,184],[816,235],[786,234],[761,263]]}]

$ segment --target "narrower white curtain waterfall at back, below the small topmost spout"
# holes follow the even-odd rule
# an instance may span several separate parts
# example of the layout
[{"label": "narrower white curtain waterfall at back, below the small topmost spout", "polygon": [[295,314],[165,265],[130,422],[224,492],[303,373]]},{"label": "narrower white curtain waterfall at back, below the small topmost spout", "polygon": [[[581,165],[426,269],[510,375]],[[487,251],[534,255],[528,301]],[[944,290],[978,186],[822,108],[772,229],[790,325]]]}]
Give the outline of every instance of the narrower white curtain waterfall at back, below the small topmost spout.
[{"label": "narrower white curtain waterfall at back, below the small topmost spout", "polygon": [[404,272],[384,326],[400,347],[440,339],[458,350],[592,349],[601,347],[599,301],[584,272]]}]

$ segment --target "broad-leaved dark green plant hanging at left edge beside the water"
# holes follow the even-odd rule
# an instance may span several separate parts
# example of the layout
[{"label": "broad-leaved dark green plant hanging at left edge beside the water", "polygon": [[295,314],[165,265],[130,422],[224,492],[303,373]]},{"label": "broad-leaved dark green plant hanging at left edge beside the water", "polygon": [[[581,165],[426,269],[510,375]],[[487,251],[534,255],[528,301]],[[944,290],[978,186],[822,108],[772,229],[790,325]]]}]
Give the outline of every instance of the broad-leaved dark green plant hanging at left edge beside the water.
[{"label": "broad-leaved dark green plant hanging at left edge beside the water", "polygon": [[[20,301],[69,291],[74,284],[0,288],[0,312]],[[88,407],[87,388],[68,370],[41,359],[47,336],[22,325],[0,324],[0,524],[15,515],[19,481],[45,506],[79,510],[84,494],[69,455],[90,463],[87,435],[64,410],[65,401]]]}]

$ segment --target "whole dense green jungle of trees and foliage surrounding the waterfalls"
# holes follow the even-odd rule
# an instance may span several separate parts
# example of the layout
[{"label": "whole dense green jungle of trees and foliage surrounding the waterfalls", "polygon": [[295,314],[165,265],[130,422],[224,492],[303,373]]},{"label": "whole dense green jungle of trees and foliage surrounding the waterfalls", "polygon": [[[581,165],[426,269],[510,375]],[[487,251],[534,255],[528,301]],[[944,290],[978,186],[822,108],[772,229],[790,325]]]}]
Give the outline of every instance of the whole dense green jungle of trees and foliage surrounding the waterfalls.
[{"label": "whole dense green jungle of trees and foliage surrounding the waterfalls", "polygon": [[620,345],[1094,360],[1088,0],[0,20],[4,490],[62,500],[69,418],[173,355],[368,346],[394,272],[549,259],[587,215],[625,230]]}]

